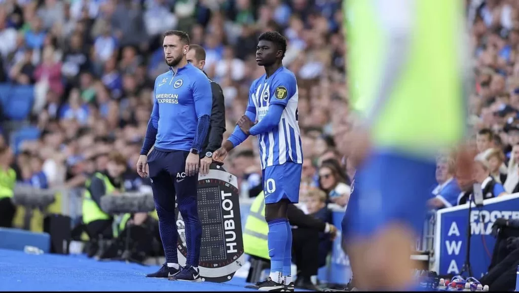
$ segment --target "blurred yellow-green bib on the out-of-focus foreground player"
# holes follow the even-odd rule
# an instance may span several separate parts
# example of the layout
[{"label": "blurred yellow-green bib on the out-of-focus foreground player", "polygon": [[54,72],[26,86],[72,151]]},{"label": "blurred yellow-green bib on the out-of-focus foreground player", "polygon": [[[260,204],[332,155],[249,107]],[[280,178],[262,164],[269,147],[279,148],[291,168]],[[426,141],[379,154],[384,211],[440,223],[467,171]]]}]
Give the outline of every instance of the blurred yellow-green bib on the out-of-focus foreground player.
[{"label": "blurred yellow-green bib on the out-of-focus foreground player", "polygon": [[[375,1],[344,1],[350,100],[362,115],[378,103],[384,28]],[[415,23],[407,60],[374,118],[372,140],[375,148],[430,156],[456,145],[465,131],[462,77],[468,74],[463,68],[468,44],[463,44],[462,1],[412,3]]]}]

